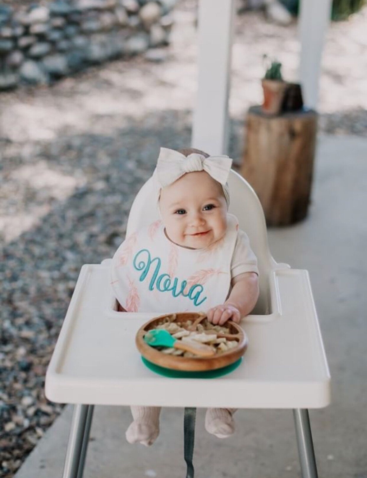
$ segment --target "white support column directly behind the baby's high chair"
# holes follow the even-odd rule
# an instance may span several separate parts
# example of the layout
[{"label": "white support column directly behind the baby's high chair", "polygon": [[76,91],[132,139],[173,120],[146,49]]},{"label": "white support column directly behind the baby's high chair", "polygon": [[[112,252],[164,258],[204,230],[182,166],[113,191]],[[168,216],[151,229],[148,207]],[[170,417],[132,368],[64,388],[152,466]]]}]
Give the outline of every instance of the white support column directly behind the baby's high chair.
[{"label": "white support column directly behind the baby's high chair", "polygon": [[234,0],[199,0],[199,78],[193,148],[226,154]]}]

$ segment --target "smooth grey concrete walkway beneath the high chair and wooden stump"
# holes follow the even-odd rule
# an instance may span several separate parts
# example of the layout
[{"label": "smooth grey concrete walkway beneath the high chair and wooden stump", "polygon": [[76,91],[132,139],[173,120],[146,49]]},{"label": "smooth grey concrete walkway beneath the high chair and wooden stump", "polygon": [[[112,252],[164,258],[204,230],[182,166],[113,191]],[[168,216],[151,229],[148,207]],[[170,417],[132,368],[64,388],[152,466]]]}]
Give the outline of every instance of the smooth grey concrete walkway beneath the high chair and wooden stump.
[{"label": "smooth grey concrete walkway beneath the high chair and wooden stump", "polygon": [[[367,140],[321,137],[309,217],[271,229],[274,258],[308,269],[332,374],[332,405],[310,412],[319,476],[366,478],[367,429]],[[62,476],[71,407],[55,421],[16,478]],[[298,477],[292,413],[242,410],[237,433],[219,440],[204,430],[198,411],[197,478]],[[129,445],[130,413],[95,407],[85,478],[185,476],[183,411],[162,412],[161,435],[151,448]]]}]

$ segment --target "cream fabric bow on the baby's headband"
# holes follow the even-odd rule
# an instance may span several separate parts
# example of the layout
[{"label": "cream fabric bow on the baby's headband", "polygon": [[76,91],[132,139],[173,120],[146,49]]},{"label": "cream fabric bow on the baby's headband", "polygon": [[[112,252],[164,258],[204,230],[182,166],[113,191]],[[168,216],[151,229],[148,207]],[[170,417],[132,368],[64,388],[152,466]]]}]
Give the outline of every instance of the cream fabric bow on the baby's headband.
[{"label": "cream fabric bow on the baby's headband", "polygon": [[157,178],[161,187],[166,187],[186,173],[205,171],[222,186],[227,183],[232,160],[228,156],[209,156],[191,153],[189,156],[161,148],[157,161]]}]

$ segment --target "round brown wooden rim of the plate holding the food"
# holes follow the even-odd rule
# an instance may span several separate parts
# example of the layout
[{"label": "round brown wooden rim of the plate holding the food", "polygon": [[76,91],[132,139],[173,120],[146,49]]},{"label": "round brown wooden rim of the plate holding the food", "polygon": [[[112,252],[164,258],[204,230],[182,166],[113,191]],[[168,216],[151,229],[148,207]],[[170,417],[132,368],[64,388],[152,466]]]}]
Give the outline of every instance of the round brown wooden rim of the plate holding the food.
[{"label": "round brown wooden rim of the plate holding the food", "polygon": [[206,318],[206,315],[196,312],[178,312],[177,314],[159,315],[159,317],[154,317],[139,328],[136,334],[136,347],[145,359],[149,360],[149,362],[159,365],[160,367],[186,371],[221,369],[222,367],[226,367],[227,365],[231,365],[232,363],[236,362],[246,351],[248,345],[248,338],[246,334],[238,324],[235,324],[229,320],[224,326],[230,329],[230,335],[218,334],[218,336],[236,340],[238,342],[237,347],[207,358],[191,358],[164,354],[156,348],[150,347],[147,343],[145,343],[143,337],[148,330],[156,328],[156,326],[165,318],[168,318],[170,322],[181,323],[190,320],[192,321],[193,325],[189,327],[189,330],[196,330],[196,327]]}]

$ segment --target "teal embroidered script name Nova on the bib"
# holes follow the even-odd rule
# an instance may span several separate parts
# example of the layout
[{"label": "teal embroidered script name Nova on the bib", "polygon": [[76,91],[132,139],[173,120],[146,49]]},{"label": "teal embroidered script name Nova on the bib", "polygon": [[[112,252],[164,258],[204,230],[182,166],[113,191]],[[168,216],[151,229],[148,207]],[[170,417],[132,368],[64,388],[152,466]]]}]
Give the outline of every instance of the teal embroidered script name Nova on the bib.
[{"label": "teal embroidered script name Nova on the bib", "polygon": [[155,267],[155,271],[149,282],[150,291],[154,290],[154,287],[156,287],[160,292],[171,292],[173,297],[178,297],[179,295],[189,297],[189,299],[192,300],[192,302],[197,306],[207,300],[207,297],[203,297],[200,300],[200,294],[204,291],[204,287],[201,284],[191,285],[189,291],[185,293],[184,291],[188,284],[187,281],[181,281],[181,285],[178,287],[177,277],[173,278],[172,280],[169,274],[160,274],[161,260],[159,257],[151,259],[150,252],[147,249],[141,249],[136,252],[133,259],[133,266],[136,271],[142,271],[139,277],[140,282],[143,282],[147,278],[150,267]]}]

